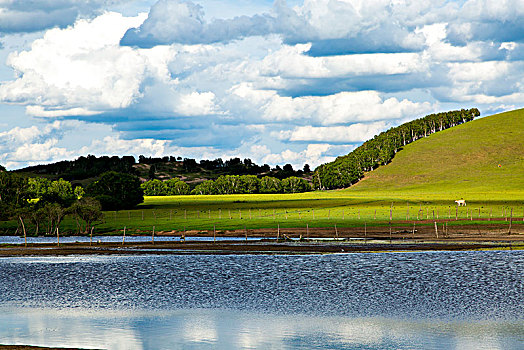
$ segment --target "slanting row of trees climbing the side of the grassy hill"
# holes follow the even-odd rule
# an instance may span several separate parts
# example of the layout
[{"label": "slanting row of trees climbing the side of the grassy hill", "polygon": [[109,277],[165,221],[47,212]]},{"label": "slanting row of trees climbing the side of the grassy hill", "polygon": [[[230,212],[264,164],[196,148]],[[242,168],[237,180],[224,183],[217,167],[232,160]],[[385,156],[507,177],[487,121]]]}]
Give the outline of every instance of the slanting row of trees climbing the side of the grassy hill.
[{"label": "slanting row of trees climbing the side of the grassy hill", "polygon": [[382,132],[351,153],[315,169],[313,185],[317,189],[345,188],[357,183],[364,172],[391,162],[405,145],[437,131],[466,123],[478,117],[476,108],[430,114]]}]

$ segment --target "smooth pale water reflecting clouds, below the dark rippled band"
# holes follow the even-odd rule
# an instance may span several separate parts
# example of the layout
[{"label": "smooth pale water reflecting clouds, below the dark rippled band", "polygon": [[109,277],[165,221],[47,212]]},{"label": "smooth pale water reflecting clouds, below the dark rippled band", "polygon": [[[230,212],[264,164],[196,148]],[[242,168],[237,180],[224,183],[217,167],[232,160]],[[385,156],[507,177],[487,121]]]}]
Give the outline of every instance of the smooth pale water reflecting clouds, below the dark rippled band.
[{"label": "smooth pale water reflecting clouds, below the dark rippled band", "polygon": [[194,309],[0,309],[0,342],[103,349],[518,349],[522,323]]}]

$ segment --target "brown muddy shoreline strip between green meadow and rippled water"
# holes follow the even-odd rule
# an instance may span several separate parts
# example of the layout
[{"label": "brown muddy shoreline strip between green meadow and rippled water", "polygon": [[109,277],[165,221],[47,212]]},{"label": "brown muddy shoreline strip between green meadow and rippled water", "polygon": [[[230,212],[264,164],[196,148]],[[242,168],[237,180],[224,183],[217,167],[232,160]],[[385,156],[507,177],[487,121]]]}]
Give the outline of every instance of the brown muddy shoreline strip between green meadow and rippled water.
[{"label": "brown muddy shoreline strip between green meadow and rippled water", "polygon": [[[500,237],[503,238],[503,237]],[[513,238],[513,237],[512,237]],[[519,238],[519,239],[517,239]],[[139,242],[139,243],[31,243],[27,247],[0,244],[0,257],[17,256],[70,256],[70,255],[300,255],[385,253],[422,251],[481,251],[524,250],[522,237],[515,239],[487,240],[279,240],[261,239],[251,241],[186,241],[186,242]]]}]

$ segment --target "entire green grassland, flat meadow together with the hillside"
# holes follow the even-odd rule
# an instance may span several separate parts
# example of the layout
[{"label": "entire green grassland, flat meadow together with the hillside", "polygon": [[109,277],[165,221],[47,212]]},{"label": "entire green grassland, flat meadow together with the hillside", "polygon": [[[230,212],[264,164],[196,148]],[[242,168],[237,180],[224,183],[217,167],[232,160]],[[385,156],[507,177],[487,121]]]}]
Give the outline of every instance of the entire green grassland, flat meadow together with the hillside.
[{"label": "entire green grassland, flat meadow together with the hillside", "polygon": [[[499,167],[500,165],[500,167]],[[464,198],[467,207],[455,206]],[[106,212],[98,233],[258,228],[505,224],[524,221],[524,110],[482,118],[416,141],[391,164],[337,191],[277,195],[146,197]],[[458,218],[460,220],[455,220]],[[467,220],[466,220],[467,219]],[[473,220],[472,220],[473,219]],[[1,224],[8,233],[15,222]],[[66,219],[63,231],[74,231]],[[30,229],[29,229],[30,230]]]}]

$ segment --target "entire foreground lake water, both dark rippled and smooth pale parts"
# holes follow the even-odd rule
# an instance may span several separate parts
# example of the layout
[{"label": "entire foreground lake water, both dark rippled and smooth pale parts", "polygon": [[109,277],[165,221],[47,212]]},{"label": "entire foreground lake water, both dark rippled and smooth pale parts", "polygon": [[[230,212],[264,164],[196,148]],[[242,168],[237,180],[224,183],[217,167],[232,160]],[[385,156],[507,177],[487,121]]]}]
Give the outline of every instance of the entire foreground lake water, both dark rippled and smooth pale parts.
[{"label": "entire foreground lake water, both dark rippled and smooth pale parts", "polygon": [[522,349],[524,252],[0,259],[0,343]]}]

